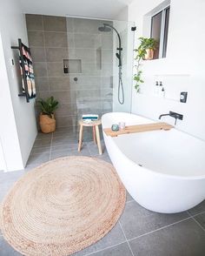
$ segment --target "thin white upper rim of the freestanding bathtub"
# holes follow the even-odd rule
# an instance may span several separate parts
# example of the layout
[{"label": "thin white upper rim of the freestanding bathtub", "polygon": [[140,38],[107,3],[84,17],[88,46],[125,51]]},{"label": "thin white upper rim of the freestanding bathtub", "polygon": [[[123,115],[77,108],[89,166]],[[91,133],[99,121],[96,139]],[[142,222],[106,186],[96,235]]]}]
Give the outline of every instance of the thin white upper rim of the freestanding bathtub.
[{"label": "thin white upper rim of the freestanding bathtub", "polygon": [[[129,112],[109,112],[109,113],[106,113],[106,114],[103,114],[102,115],[102,118],[104,116],[108,116],[109,114],[111,113],[119,113],[119,114],[130,114],[130,115],[133,115],[133,116],[136,116],[136,117],[141,117],[141,118],[146,118],[146,117],[143,117],[142,115],[136,115],[136,114],[133,114],[133,113],[129,113]],[[151,121],[154,121],[154,122],[157,122],[157,120],[153,120],[153,119],[150,119],[150,118],[147,118]],[[103,120],[102,120],[102,132],[103,132],[103,136],[105,136],[106,138],[109,138],[110,136],[107,136],[105,134],[105,132],[103,131],[104,128],[108,128],[108,127],[103,127]],[[176,131],[179,131],[179,132],[183,132],[185,134],[187,134],[188,136],[190,137],[193,137],[195,139],[199,139],[201,140],[203,143],[205,143],[205,141],[202,139],[202,138],[197,138],[187,132],[184,132],[184,131],[181,131],[179,129],[176,129],[175,127],[173,128],[175,129]],[[122,134],[120,136],[123,136],[123,135],[128,135],[128,134]],[[109,138],[115,145],[116,143],[112,140],[112,137]],[[167,179],[184,179],[184,180],[199,180],[199,179],[205,179],[205,173],[203,175],[198,175],[198,176],[182,176],[182,175],[172,175],[172,174],[167,174],[167,173],[162,173],[162,172],[155,172],[149,168],[146,168],[144,166],[141,166],[141,165],[138,165],[136,164],[136,162],[134,162],[132,159],[130,159],[129,157],[127,157],[121,150],[120,148],[116,145],[116,147],[119,149],[119,151],[122,153],[123,157],[126,158],[127,160],[129,160],[133,165],[137,165],[137,167],[140,167],[140,170],[145,170],[146,172],[149,172],[151,173],[152,175],[154,174],[155,176],[163,176],[164,178],[167,178]],[[205,171],[204,171],[205,172]]]}]

